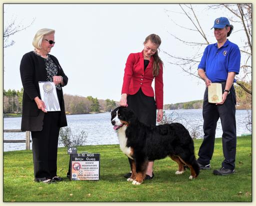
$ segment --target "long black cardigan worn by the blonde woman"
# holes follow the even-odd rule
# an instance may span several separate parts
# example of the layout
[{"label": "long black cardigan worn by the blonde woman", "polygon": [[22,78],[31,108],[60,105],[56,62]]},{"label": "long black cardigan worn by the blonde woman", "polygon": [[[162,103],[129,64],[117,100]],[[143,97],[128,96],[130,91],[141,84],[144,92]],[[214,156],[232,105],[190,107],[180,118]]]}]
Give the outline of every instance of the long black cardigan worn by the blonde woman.
[{"label": "long black cardigan worn by the blonde woman", "polygon": [[[58,67],[57,76],[63,77],[64,86],[67,84],[67,76],[64,74],[58,60],[55,56],[50,55],[50,58]],[[38,96],[40,99],[39,81],[47,81],[47,73],[45,69],[44,59],[30,51],[23,55],[20,62],[20,77],[24,88],[22,101],[22,119],[21,131],[41,131],[43,125],[44,112],[37,108],[34,98]],[[58,95],[60,104],[59,127],[67,126],[64,98],[62,88]]]}]

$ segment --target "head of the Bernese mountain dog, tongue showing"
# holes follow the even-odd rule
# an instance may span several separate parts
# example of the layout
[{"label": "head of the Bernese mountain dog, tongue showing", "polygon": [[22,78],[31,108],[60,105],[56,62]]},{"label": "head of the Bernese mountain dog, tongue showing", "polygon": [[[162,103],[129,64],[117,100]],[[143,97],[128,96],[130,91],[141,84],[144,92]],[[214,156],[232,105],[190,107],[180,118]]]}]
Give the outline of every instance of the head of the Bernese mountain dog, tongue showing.
[{"label": "head of the Bernese mountain dog, tongue showing", "polygon": [[134,114],[127,107],[117,107],[111,112],[111,124],[114,130],[118,130],[123,125],[128,125],[134,118]]}]

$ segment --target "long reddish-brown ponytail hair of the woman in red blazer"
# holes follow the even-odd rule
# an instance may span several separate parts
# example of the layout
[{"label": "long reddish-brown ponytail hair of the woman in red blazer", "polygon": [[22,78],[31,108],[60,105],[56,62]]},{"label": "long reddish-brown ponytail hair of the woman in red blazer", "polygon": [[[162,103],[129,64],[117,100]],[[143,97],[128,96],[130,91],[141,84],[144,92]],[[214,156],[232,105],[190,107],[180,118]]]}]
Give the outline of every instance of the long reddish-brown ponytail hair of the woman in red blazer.
[{"label": "long reddish-brown ponytail hair of the woman in red blazer", "polygon": [[152,33],[150,34],[149,36],[147,36],[145,38],[145,41],[144,41],[144,44],[150,40],[152,43],[156,44],[157,45],[157,50],[156,52],[154,53],[153,57],[154,57],[154,63],[153,63],[153,71],[152,71],[152,74],[153,76],[157,76],[158,73],[159,73],[159,64],[163,64],[162,63],[162,60],[160,59],[160,57],[158,56],[158,47],[160,46],[161,44],[161,39],[158,35]]}]

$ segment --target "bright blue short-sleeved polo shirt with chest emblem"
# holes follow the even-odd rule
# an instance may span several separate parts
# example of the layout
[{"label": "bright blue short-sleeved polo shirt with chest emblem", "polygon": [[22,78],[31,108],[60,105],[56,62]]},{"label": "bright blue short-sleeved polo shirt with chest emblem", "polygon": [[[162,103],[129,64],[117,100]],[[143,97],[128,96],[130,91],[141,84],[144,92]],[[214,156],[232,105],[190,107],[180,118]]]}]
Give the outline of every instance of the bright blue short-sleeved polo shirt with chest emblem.
[{"label": "bright blue short-sleeved polo shirt with chest emblem", "polygon": [[227,39],[220,48],[217,43],[205,48],[198,69],[203,69],[212,83],[223,82],[226,81],[228,72],[239,73],[240,59],[238,46]]}]

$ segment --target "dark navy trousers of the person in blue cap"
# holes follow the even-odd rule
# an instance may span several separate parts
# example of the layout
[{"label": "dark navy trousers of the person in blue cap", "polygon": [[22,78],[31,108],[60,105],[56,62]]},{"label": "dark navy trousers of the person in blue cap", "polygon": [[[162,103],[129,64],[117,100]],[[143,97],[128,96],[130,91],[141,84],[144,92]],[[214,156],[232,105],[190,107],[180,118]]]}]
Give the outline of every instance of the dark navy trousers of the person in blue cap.
[{"label": "dark navy trousers of the person in blue cap", "polygon": [[[222,84],[222,92],[225,84]],[[228,169],[235,168],[236,153],[236,125],[235,125],[235,90],[232,86],[230,93],[227,95],[224,104],[215,105],[208,103],[208,88],[205,89],[203,97],[203,142],[198,151],[197,162],[202,165],[210,164],[213,155],[215,131],[217,121],[220,118],[222,127],[222,149],[224,161],[222,167]]]}]

